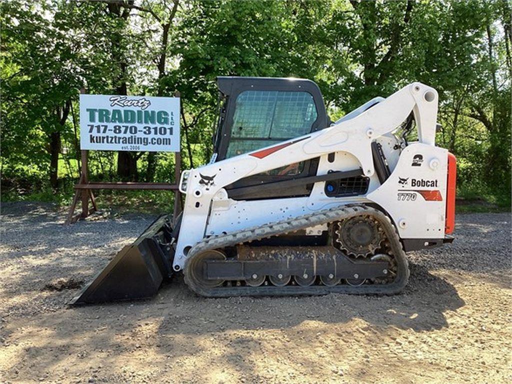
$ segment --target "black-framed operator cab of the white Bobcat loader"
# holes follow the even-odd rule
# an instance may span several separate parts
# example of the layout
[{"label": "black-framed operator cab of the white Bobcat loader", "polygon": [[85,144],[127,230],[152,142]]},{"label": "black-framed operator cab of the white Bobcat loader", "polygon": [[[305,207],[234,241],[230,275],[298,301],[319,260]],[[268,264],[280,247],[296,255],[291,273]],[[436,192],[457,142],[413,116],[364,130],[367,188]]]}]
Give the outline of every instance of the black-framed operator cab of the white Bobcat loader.
[{"label": "black-framed operator cab of the white Bobcat loader", "polygon": [[[322,130],[331,123],[320,89],[311,80],[273,77],[218,77],[220,113],[214,157],[220,161]],[[318,158],[241,179],[228,191],[316,175]],[[307,196],[312,185],[243,199]]]}]

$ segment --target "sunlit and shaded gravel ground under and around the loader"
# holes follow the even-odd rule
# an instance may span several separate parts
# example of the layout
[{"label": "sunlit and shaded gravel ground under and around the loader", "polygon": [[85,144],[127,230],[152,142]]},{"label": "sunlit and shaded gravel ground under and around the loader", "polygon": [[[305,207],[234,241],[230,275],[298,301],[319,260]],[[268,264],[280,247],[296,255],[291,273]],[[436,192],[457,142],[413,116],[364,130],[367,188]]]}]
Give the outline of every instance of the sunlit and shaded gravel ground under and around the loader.
[{"label": "sunlit and shaded gravel ground under and around the loader", "polygon": [[64,217],[2,206],[2,383],[512,380],[510,214],[458,215],[452,245],[409,254],[397,296],[206,299],[176,278],[151,301],[80,308],[78,287],[153,218]]}]

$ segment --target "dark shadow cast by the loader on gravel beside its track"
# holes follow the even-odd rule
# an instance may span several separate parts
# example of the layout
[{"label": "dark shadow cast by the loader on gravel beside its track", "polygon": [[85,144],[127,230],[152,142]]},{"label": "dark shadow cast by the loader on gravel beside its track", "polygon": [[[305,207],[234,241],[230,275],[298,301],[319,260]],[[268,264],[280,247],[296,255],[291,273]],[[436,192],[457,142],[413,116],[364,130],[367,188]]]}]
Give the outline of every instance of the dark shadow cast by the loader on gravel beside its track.
[{"label": "dark shadow cast by the loader on gravel beside its track", "polygon": [[[465,303],[455,287],[421,265],[411,265],[411,280],[396,296],[325,296],[202,298],[186,297],[180,287],[165,287],[185,296],[178,308],[169,308],[160,333],[211,333],[226,329],[293,327],[305,321],[348,323],[360,318],[371,326],[429,331],[447,327],[445,311]],[[192,305],[191,303],[197,303]]]}]

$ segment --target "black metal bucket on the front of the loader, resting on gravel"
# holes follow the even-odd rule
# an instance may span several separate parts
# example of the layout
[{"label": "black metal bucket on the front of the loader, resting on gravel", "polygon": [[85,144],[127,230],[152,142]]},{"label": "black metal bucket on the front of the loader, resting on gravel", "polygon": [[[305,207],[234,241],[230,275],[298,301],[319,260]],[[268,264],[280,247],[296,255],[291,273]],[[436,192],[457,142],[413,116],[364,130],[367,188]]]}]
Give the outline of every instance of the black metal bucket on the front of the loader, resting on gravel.
[{"label": "black metal bucket on the front of the loader, resting on gravel", "polygon": [[95,304],[153,297],[170,276],[173,248],[170,215],[159,217],[73,298],[70,305]]}]

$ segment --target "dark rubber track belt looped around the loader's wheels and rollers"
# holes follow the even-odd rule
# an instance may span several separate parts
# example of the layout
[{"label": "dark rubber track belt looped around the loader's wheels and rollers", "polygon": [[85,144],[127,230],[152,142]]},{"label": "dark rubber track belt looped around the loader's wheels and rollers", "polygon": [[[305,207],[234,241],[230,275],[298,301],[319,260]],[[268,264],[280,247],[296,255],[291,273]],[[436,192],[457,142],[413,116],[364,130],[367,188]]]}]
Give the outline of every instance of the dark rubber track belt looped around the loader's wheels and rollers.
[{"label": "dark rubber track belt looped around the loader's wheels and rollers", "polygon": [[[287,285],[285,287],[276,287],[273,285],[261,285],[259,287],[205,287],[197,284],[190,273],[188,266],[190,260],[206,251],[223,248],[226,246],[234,246],[253,240],[261,240],[271,236],[279,236],[281,234],[293,232],[299,229],[305,229],[318,224],[330,223],[349,219],[355,216],[367,215],[376,219],[382,226],[386,240],[389,242],[391,251],[397,267],[397,276],[392,283],[389,284],[363,284],[361,286],[336,285],[327,287],[324,285],[312,285],[309,287],[301,287],[298,285]],[[391,223],[391,220],[381,211],[365,205],[351,205],[342,208],[336,207],[314,212],[313,214],[300,216],[297,218],[283,220],[276,223],[270,223],[259,227],[243,229],[238,232],[231,232],[218,236],[205,238],[198,242],[188,252],[187,262],[184,268],[185,283],[194,292],[207,297],[229,297],[229,296],[283,296],[283,295],[322,295],[331,292],[347,293],[347,294],[378,294],[389,295],[399,293],[409,280],[409,266],[406,259],[406,253],[403,251],[402,245],[398,238],[398,233]]]}]

